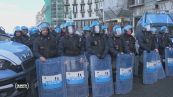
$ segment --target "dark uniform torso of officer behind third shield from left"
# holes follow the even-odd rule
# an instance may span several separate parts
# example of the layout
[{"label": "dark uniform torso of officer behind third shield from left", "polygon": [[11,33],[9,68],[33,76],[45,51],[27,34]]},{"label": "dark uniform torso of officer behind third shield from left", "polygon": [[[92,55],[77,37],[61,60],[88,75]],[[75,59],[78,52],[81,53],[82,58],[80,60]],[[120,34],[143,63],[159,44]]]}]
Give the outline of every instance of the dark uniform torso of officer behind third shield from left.
[{"label": "dark uniform torso of officer behind third shield from left", "polygon": [[108,54],[107,37],[102,34],[93,34],[86,40],[86,49],[90,55],[96,55],[102,59]]}]

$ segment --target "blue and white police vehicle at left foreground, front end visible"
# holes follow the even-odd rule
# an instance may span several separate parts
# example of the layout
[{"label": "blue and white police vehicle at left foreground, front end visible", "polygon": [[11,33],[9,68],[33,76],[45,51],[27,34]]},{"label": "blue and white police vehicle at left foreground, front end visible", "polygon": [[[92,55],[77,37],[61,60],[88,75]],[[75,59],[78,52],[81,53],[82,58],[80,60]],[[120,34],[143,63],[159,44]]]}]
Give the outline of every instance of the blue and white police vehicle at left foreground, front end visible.
[{"label": "blue and white police vehicle at left foreground, front end visible", "polygon": [[0,97],[26,97],[35,78],[34,58],[29,47],[0,34]]}]

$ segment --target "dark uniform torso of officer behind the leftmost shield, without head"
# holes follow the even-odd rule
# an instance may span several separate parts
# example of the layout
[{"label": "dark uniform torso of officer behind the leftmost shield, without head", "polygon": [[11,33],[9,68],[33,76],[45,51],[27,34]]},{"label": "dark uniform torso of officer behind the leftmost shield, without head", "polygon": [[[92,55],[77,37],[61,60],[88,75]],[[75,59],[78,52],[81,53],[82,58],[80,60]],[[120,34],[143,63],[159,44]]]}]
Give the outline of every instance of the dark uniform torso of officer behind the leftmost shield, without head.
[{"label": "dark uniform torso of officer behind the leftmost shield, without head", "polygon": [[56,39],[51,34],[38,36],[33,44],[33,51],[36,58],[53,58],[57,56]]}]

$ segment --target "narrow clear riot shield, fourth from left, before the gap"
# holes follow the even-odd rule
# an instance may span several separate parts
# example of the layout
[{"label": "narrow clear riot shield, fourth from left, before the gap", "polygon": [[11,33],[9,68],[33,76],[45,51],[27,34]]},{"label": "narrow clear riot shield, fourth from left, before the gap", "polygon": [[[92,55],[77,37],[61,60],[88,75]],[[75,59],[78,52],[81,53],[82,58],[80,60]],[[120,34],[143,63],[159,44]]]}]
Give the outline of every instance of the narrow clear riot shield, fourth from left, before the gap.
[{"label": "narrow clear riot shield, fourth from left, before the gap", "polygon": [[134,54],[118,54],[116,59],[115,93],[127,94],[133,88]]}]

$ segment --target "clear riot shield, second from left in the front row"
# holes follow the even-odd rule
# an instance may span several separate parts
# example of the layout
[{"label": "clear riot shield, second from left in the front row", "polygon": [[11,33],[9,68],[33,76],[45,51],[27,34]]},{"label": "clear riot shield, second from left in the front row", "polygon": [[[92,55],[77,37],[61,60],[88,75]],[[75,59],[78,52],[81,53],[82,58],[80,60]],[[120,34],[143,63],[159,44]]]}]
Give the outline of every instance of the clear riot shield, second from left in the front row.
[{"label": "clear riot shield, second from left in the front row", "polygon": [[88,71],[85,56],[64,57],[67,97],[87,97]]}]

